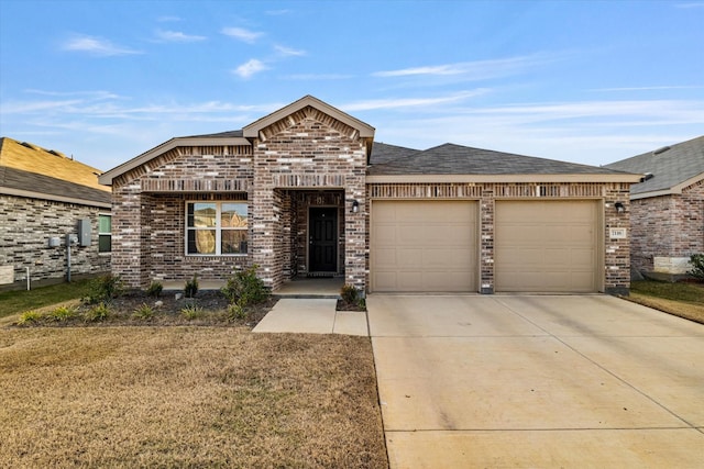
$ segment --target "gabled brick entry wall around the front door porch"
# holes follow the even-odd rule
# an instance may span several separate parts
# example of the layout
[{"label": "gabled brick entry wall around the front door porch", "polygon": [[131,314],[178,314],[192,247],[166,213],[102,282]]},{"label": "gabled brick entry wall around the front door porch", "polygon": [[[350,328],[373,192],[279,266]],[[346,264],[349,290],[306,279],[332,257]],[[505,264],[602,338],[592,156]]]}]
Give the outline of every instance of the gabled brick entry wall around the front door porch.
[{"label": "gabled brick entry wall around the front door porch", "polygon": [[[350,212],[352,199],[360,202],[360,209],[365,206],[365,171],[366,142],[353,129],[315,108],[301,109],[260,132],[260,138],[254,141],[251,252],[268,287],[279,287],[290,265],[274,255],[277,246],[283,247],[280,239],[289,236],[284,233],[280,215],[285,192],[344,188],[345,281],[364,288],[366,215],[364,210]],[[299,253],[295,257],[300,266]]]}]

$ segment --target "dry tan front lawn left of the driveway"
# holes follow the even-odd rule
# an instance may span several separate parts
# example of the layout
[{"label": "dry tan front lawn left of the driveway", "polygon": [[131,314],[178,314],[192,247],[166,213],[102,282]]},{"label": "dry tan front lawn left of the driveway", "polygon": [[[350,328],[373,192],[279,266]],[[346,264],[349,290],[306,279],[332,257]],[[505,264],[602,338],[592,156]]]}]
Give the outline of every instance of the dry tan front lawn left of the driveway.
[{"label": "dry tan front lawn left of the driveway", "polygon": [[6,328],[8,467],[387,466],[369,337]]}]

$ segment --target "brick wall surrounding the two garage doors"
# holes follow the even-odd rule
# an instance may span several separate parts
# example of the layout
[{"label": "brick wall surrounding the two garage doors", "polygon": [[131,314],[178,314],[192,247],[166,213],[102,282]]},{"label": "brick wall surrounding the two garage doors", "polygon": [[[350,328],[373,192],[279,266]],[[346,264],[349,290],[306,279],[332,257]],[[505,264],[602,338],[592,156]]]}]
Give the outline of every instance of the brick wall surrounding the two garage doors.
[{"label": "brick wall surrounding the two garage doors", "polygon": [[[630,230],[628,183],[372,183],[372,199],[466,199],[480,202],[480,289],[494,292],[494,204],[496,200],[601,199],[604,203],[604,290],[627,294],[630,289],[629,237],[612,239],[610,228]],[[617,213],[615,203],[626,208]],[[367,212],[370,210],[367,202]],[[366,232],[370,231],[367,220]],[[369,235],[367,235],[369,245]],[[369,257],[369,255],[367,255]],[[369,284],[369,276],[367,276]]]}]

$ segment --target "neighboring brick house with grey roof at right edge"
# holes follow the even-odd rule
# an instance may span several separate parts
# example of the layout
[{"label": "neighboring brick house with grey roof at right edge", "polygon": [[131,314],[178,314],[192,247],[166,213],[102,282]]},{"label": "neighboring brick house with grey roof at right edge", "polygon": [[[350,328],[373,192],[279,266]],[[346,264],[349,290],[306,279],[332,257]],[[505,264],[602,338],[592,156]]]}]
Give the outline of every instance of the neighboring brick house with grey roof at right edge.
[{"label": "neighboring brick house with grey roof at right edge", "polygon": [[630,187],[634,267],[686,273],[690,256],[704,253],[704,136],[606,167],[645,175]]}]

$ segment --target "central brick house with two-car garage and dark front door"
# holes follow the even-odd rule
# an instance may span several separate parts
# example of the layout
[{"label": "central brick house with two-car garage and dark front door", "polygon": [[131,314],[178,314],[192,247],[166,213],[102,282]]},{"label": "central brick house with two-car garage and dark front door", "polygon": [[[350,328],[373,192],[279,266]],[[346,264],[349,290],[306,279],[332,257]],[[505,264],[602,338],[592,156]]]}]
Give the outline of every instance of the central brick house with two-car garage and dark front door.
[{"label": "central brick house with two-car garage and dark front door", "polygon": [[266,286],[344,276],[363,292],[600,292],[630,286],[639,176],[441,145],[374,143],[310,96],[241,131],[177,137],[111,169],[112,270]]}]

